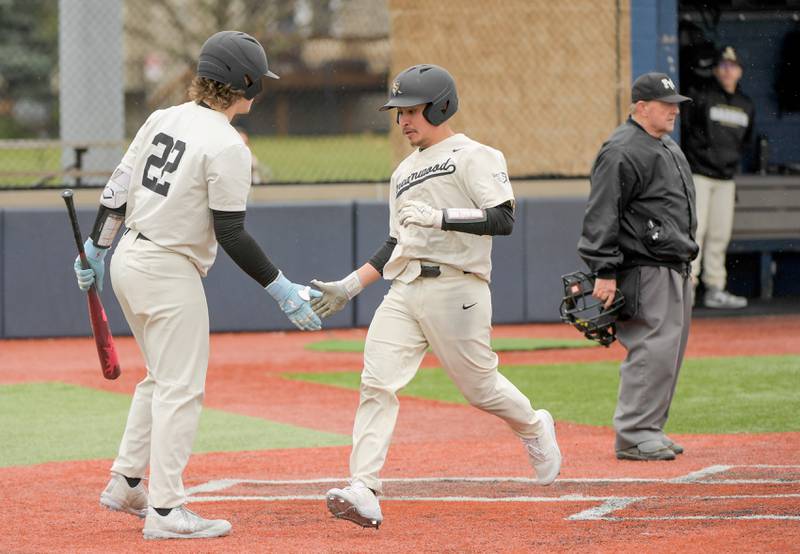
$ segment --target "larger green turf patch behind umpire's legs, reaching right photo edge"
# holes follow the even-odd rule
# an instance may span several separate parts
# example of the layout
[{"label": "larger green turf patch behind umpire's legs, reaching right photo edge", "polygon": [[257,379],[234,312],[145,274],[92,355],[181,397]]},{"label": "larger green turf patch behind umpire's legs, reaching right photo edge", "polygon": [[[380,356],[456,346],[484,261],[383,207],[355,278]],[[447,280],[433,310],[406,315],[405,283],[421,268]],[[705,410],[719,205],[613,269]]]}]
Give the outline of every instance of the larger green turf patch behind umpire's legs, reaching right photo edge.
[{"label": "larger green turf patch behind umpire's legs, reaching right photo edge", "polygon": [[[610,426],[619,363],[509,366],[500,371],[556,419]],[[287,374],[288,378],[357,389],[357,372]],[[678,380],[667,431],[766,433],[800,431],[800,356],[687,360]],[[423,369],[401,395],[465,403],[441,369]]]}]

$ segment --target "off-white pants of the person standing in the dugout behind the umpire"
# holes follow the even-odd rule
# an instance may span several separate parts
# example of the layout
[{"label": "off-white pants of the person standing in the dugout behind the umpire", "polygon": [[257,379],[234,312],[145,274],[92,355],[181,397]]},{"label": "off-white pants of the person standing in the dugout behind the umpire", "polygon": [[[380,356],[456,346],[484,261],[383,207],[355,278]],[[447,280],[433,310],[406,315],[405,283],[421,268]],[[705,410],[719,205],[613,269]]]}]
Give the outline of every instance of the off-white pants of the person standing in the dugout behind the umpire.
[{"label": "off-white pants of the person standing in the dugout behind the umpire", "polygon": [[692,282],[697,284],[700,269],[707,288],[727,289],[728,272],[725,257],[733,229],[733,212],[736,203],[734,182],[692,175],[697,206],[697,233],[700,247],[692,262]]}]

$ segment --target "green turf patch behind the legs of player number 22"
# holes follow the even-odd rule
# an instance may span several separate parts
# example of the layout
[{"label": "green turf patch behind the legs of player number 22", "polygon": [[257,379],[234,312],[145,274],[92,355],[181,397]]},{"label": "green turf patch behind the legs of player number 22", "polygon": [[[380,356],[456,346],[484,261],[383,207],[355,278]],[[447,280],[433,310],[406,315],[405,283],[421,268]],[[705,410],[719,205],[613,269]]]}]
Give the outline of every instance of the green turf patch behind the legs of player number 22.
[{"label": "green turf patch behind the legs of player number 22", "polygon": [[[0,386],[0,467],[113,458],[131,397],[64,383]],[[349,436],[204,409],[194,452],[350,444]]]}]

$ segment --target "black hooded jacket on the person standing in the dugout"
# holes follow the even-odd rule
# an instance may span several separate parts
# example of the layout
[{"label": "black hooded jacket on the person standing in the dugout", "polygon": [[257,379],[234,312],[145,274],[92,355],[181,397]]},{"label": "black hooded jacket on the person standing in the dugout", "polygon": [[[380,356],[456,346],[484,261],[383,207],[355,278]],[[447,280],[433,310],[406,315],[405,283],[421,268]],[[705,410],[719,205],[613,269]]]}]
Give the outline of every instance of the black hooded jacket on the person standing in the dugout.
[{"label": "black hooded jacket on the person standing in the dugout", "polygon": [[738,88],[728,94],[716,79],[689,96],[694,102],[681,108],[681,137],[692,171],[712,179],[732,179],[752,140],[753,101]]}]

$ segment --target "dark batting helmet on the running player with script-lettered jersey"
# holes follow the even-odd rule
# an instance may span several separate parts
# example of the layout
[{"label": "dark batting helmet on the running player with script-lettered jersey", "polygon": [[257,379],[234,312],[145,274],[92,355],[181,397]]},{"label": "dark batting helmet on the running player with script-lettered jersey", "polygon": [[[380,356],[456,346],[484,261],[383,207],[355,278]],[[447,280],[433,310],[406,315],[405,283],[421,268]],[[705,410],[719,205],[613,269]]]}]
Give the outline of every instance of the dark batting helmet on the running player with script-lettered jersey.
[{"label": "dark batting helmet on the running player with script-lettered jersey", "polygon": [[380,109],[427,104],[422,115],[431,125],[441,125],[458,110],[456,82],[446,69],[433,64],[415,65],[392,82],[389,101]]}]

